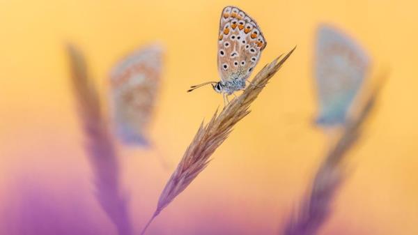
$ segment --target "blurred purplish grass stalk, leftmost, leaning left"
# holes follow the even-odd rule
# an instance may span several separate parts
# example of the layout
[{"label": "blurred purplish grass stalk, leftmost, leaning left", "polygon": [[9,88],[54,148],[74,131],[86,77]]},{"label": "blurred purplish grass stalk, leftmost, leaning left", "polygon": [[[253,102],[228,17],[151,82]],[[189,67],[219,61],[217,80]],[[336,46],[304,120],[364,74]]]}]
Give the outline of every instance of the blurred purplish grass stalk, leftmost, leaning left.
[{"label": "blurred purplish grass stalk, leftmost, leaning left", "polygon": [[100,107],[100,96],[88,76],[86,61],[76,47],[68,45],[73,91],[86,135],[86,151],[94,173],[96,199],[118,229],[118,234],[132,234],[127,200],[119,185],[120,171],[114,142]]}]

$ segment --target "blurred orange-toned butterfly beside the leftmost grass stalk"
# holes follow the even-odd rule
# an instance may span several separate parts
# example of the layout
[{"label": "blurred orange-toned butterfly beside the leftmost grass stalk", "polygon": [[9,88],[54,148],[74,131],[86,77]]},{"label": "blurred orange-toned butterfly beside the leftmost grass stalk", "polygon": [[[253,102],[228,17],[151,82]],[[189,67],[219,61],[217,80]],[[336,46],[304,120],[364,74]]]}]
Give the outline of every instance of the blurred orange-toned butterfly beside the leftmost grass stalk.
[{"label": "blurred orange-toned butterfly beside the leftmost grass stalk", "polygon": [[111,70],[111,112],[123,144],[148,146],[161,69],[162,47],[150,45],[126,56]]}]

